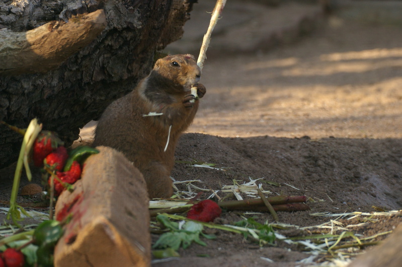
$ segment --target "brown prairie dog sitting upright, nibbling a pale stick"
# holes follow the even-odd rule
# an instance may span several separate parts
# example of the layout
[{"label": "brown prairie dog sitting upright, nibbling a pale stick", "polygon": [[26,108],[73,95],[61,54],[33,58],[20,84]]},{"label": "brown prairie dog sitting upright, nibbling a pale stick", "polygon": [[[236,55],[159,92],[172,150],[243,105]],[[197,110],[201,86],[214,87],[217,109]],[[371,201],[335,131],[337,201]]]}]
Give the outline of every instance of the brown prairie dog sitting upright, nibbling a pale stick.
[{"label": "brown prairie dog sitting upright, nibbling a pale stick", "polygon": [[[123,152],[144,175],[150,198],[172,196],[169,175],[176,143],[192,123],[199,105],[198,100],[190,102],[194,100],[191,87],[197,86],[199,97],[205,94],[204,85],[198,84],[200,75],[192,55],[159,59],[135,90],[113,102],[99,120],[94,146],[110,146]],[[163,115],[143,116],[150,112]]]}]

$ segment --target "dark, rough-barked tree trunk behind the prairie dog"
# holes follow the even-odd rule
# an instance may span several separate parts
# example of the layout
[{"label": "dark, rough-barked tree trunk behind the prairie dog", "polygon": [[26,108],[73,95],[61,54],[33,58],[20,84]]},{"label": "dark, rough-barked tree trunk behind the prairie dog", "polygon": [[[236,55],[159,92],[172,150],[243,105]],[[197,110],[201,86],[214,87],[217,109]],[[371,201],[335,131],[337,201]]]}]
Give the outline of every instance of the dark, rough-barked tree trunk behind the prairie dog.
[{"label": "dark, rough-barked tree trunk behind the prairie dog", "polygon": [[[24,32],[49,21],[103,9],[98,38],[46,73],[0,74],[0,120],[26,128],[33,118],[68,144],[114,99],[152,68],[155,51],[179,39],[192,0],[5,0],[0,29]],[[0,30],[2,31],[2,30]],[[4,31],[4,29],[3,29]],[[186,52],[186,51],[183,51]],[[0,65],[5,62],[0,61]],[[0,168],[13,162],[21,137],[0,125]]]}]

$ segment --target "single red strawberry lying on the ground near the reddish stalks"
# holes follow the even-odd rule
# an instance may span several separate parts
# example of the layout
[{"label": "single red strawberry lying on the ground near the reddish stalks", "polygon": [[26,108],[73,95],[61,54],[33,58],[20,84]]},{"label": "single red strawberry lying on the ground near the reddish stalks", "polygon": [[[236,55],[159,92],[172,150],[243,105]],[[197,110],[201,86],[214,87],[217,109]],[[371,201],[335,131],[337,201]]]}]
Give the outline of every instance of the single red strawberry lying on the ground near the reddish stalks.
[{"label": "single red strawberry lying on the ground near the reddish stalks", "polygon": [[212,222],[219,217],[221,212],[222,210],[216,202],[207,199],[194,204],[188,211],[187,218],[200,222]]}]

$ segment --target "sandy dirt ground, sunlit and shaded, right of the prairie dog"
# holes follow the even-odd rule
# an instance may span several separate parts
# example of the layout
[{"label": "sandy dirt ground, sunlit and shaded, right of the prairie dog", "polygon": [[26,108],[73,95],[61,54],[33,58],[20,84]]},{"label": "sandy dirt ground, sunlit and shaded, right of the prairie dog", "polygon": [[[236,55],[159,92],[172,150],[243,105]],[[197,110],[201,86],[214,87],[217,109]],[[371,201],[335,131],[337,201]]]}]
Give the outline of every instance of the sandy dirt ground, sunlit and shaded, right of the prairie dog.
[{"label": "sandy dirt ground, sunlit and shaded, right of the prairie dog", "polygon": [[[336,217],[311,215],[318,212],[378,210],[373,206],[401,209],[401,44],[400,27],[329,17],[319,30],[297,43],[209,57],[201,80],[207,94],[180,140],[176,159],[229,168],[176,163],[172,177],[201,180],[195,185],[213,190],[233,185],[233,180],[243,184],[249,177],[264,177],[263,188],[272,192],[267,196],[310,197],[310,211],[278,213],[281,223],[298,226],[275,229],[288,237],[343,232],[330,227]],[[264,183],[271,181],[279,186]],[[183,185],[178,188],[187,191]],[[3,187],[2,198],[8,197],[9,189],[11,185]],[[273,220],[268,213],[223,212],[217,222],[252,216],[262,223]],[[359,218],[338,221],[345,229],[366,222]],[[369,221],[347,229],[367,237],[393,230],[402,219],[389,216]],[[329,227],[299,229],[323,223]],[[180,259],[153,266],[307,266],[333,258],[323,252],[314,257],[315,263],[303,263],[300,260],[311,255],[303,245],[277,240],[275,246],[260,247],[241,235],[213,233],[216,239],[203,239],[207,246],[193,244],[180,249]],[[157,237],[152,235],[153,240]]]}]

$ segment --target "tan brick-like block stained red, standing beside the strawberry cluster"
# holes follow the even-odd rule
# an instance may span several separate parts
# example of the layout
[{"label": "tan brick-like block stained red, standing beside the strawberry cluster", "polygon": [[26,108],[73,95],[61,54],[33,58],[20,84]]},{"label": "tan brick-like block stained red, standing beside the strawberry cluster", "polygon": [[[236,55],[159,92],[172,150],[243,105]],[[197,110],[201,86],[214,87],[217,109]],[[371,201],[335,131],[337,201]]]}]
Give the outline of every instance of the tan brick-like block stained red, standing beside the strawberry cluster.
[{"label": "tan brick-like block stained red, standing beside the strawberry cluster", "polygon": [[71,220],[54,251],[55,266],[149,266],[148,193],[140,171],[116,150],[100,146],[82,179],[56,203]]}]

